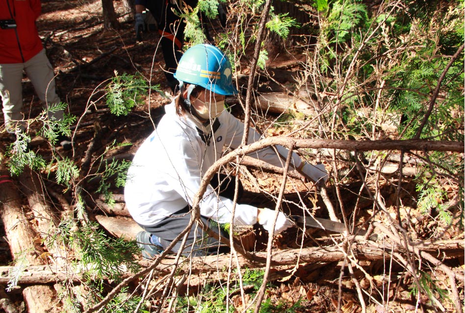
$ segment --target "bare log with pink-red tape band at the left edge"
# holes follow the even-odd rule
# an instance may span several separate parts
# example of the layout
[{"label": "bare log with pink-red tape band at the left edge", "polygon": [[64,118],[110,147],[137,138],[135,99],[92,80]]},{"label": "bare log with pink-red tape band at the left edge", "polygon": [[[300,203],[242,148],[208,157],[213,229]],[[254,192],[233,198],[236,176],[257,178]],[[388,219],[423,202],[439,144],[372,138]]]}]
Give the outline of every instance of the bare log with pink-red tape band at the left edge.
[{"label": "bare log with pink-red tape band at the left edge", "polygon": [[[37,258],[37,234],[31,229],[28,222],[28,217],[20,201],[18,188],[13,180],[7,175],[7,171],[3,164],[0,164],[0,217],[5,227],[6,236],[11,249],[11,255],[15,261],[26,258],[29,264],[42,265],[43,262]],[[26,262],[27,262],[26,261]],[[11,266],[9,270],[14,267]],[[9,271],[8,270],[8,271]],[[8,272],[9,273],[9,272]],[[3,285],[7,285],[11,281],[15,283],[19,279],[18,276],[11,277],[9,274]],[[38,281],[34,284],[42,284]],[[56,293],[50,286],[29,286],[23,290],[23,297],[28,308],[28,312],[45,313],[50,312],[51,304],[56,302]],[[38,301],[39,300],[39,301]]]}]

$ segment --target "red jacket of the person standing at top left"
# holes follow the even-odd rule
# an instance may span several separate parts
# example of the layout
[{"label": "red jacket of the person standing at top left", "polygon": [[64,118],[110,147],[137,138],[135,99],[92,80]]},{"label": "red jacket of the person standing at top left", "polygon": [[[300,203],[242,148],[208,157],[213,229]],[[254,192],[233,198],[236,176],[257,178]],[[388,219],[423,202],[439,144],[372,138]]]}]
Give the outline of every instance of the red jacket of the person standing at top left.
[{"label": "red jacket of the person standing at top left", "polygon": [[42,49],[35,20],[40,0],[0,0],[0,20],[15,20],[16,28],[0,28],[0,64],[24,63]]}]

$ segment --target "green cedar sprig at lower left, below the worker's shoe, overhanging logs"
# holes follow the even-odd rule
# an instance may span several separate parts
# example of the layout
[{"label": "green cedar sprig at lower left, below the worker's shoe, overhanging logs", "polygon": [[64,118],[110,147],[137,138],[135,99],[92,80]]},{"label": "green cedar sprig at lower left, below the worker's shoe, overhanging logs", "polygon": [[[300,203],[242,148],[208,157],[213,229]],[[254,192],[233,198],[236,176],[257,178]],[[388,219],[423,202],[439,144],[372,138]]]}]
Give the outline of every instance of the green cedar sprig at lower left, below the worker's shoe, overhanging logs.
[{"label": "green cedar sprig at lower left, below the worker's shoe, overhanging logs", "polygon": [[61,240],[75,249],[79,266],[86,268],[86,273],[90,277],[94,276],[95,281],[104,277],[116,279],[126,268],[133,272],[139,270],[140,266],[134,260],[134,255],[140,249],[134,240],[109,238],[95,223],[78,227],[73,221],[64,220],[58,229]]}]

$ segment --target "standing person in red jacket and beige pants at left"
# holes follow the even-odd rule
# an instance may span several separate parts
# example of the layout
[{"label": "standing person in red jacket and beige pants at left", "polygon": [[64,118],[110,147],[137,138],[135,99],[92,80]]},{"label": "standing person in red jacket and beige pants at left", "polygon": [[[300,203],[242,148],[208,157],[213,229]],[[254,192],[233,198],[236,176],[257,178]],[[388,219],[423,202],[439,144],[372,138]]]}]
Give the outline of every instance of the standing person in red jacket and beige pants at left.
[{"label": "standing person in red jacket and beige pants at left", "polygon": [[[0,95],[5,128],[9,133],[25,129],[23,115],[23,71],[42,103],[59,104],[52,65],[45,54],[35,21],[41,14],[40,0],[0,0]],[[62,120],[63,110],[48,111],[49,119]],[[71,149],[63,134],[58,142]]]}]

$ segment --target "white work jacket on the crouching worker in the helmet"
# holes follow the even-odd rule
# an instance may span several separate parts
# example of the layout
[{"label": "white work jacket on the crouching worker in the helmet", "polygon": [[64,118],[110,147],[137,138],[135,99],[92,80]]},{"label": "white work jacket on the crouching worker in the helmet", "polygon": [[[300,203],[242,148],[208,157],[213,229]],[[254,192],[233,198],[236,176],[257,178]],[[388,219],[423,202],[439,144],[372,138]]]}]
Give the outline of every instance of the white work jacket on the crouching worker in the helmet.
[{"label": "white work jacket on the crouching worker in the helmet", "polygon": [[[222,156],[224,146],[237,148],[244,132],[244,124],[225,110],[217,117],[218,129],[209,140],[203,139],[198,129],[208,134],[210,125],[203,126],[190,114],[178,116],[174,102],[166,105],[165,111],[155,131],[135,154],[125,186],[129,212],[137,223],[144,226],[155,225],[187,204],[192,205],[207,169]],[[260,139],[260,135],[250,129],[248,139],[249,143],[253,143]],[[282,156],[287,155],[284,147],[277,148]],[[284,164],[272,148],[250,156],[280,167]],[[301,162],[295,153],[293,162],[297,165]],[[218,196],[208,185],[200,203],[201,215],[219,223],[229,223],[231,212],[232,200]],[[256,207],[236,205],[234,223],[253,225],[256,222]]]}]

